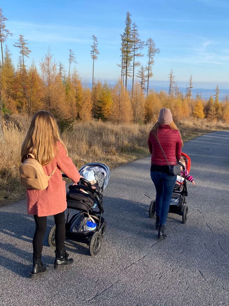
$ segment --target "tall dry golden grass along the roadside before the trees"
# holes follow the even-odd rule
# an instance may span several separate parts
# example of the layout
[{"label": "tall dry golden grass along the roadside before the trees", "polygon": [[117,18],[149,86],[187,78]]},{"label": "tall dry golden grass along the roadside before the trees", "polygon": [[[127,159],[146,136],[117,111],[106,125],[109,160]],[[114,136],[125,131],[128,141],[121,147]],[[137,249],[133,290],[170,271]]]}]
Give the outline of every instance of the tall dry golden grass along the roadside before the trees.
[{"label": "tall dry golden grass along the roadside before the trees", "polygon": [[[20,185],[20,146],[29,122],[20,120],[22,130],[15,126],[4,127],[5,143],[0,147],[0,201],[12,202],[24,197]],[[69,156],[80,168],[88,162],[103,162],[111,168],[149,154],[147,136],[152,124],[120,124],[90,121],[76,122],[73,132],[65,132],[62,139],[67,145]],[[183,140],[189,140],[216,129],[229,126],[206,120],[187,120],[178,123]]]}]

